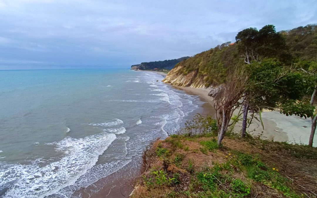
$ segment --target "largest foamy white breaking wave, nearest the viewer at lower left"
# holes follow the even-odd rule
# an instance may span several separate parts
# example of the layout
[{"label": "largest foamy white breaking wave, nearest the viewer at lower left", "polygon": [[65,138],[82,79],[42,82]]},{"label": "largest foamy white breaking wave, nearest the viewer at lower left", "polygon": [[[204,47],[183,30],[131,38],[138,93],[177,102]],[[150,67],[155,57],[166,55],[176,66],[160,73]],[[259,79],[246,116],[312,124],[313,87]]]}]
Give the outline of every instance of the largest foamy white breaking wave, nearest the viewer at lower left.
[{"label": "largest foamy white breaking wave, nearest the viewer at lower left", "polygon": [[66,137],[47,143],[64,153],[58,161],[37,159],[30,165],[0,163],[0,189],[8,189],[3,197],[45,197],[74,185],[115,139],[115,134],[106,132],[78,139]]}]

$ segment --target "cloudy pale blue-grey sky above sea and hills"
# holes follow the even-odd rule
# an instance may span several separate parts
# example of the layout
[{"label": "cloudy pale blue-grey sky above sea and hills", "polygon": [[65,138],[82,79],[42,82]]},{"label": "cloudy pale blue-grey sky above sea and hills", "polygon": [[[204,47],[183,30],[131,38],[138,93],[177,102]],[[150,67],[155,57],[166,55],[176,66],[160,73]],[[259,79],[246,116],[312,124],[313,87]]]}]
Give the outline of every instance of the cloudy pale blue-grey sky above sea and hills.
[{"label": "cloudy pale blue-grey sky above sea and hills", "polygon": [[316,0],[0,0],[0,70],[129,68],[317,23]]}]

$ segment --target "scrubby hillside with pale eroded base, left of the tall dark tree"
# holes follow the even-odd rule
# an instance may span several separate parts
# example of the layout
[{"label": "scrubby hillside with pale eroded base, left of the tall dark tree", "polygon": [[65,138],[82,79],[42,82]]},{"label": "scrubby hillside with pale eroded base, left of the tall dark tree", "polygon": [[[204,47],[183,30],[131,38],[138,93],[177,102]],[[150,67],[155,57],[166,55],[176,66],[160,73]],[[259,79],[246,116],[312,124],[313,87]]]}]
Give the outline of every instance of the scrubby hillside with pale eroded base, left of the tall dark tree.
[{"label": "scrubby hillside with pale eroded base, left of the tall dark tree", "polygon": [[225,82],[239,63],[236,45],[224,43],[184,60],[167,74],[163,82],[175,86],[205,88]]}]

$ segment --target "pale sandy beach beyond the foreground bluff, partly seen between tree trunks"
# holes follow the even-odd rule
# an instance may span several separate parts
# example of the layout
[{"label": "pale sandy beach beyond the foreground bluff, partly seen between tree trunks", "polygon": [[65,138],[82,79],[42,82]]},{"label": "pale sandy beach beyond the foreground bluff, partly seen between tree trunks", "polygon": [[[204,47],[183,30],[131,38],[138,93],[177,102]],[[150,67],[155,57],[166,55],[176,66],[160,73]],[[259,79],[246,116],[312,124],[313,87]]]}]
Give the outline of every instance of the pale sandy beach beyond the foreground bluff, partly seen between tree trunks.
[{"label": "pale sandy beach beyond the foreground bluff, partly seen between tree trunks", "polygon": [[[166,76],[165,73],[148,71],[159,73]],[[203,105],[198,112],[204,114],[215,114],[213,109],[213,100],[208,93],[210,89],[204,88],[192,88],[192,87],[179,87],[174,86],[177,89],[184,90],[187,94],[198,95],[202,101],[208,102],[209,105]],[[236,111],[237,114],[238,111]],[[264,139],[274,140],[278,142],[289,142],[292,144],[307,144],[311,130],[310,118],[300,118],[298,116],[286,116],[280,112],[262,112],[262,120],[264,124],[264,130],[262,125],[256,119],[253,119],[252,124],[249,126],[247,131],[254,136],[262,136]],[[238,122],[234,127],[234,131],[239,132],[241,130],[241,122]],[[317,141],[314,142],[313,146],[317,146]]]}]

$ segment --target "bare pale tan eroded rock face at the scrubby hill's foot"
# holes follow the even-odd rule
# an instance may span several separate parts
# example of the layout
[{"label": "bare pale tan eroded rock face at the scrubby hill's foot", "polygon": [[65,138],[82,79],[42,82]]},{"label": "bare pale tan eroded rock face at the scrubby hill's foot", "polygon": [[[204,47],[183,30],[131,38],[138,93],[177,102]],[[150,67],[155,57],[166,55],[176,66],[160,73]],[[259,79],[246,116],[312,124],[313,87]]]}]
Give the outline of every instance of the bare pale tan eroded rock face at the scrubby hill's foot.
[{"label": "bare pale tan eroded rock face at the scrubby hill's foot", "polygon": [[197,75],[197,71],[192,71],[184,75],[181,70],[183,66],[174,67],[162,80],[165,83],[171,83],[175,86],[190,86],[193,88],[205,88],[205,83],[201,77]]}]

